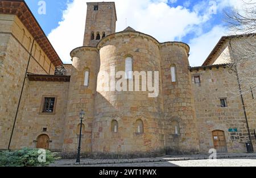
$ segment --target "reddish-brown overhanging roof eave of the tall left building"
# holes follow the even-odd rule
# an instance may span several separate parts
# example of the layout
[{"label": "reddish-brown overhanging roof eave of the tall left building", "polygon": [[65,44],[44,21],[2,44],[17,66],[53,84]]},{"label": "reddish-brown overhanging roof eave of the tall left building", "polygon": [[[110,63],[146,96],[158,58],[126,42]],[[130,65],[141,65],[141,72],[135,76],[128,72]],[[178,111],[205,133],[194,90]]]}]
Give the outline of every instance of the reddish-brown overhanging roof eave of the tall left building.
[{"label": "reddish-brown overhanging roof eave of the tall left building", "polygon": [[40,45],[43,51],[48,56],[49,60],[55,67],[63,64],[60,57],[57,55],[52,44],[49,42],[46,34],[40,27],[35,16],[32,14],[24,0],[1,0],[0,14],[12,14],[18,16],[35,41]]}]

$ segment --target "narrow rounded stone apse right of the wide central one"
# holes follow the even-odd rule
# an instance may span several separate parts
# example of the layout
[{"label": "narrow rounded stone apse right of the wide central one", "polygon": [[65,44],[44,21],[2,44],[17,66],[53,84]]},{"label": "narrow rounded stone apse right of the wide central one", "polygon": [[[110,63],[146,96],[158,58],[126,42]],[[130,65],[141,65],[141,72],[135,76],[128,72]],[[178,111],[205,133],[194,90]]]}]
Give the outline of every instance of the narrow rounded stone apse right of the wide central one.
[{"label": "narrow rounded stone apse right of the wide central one", "polygon": [[[168,152],[199,152],[188,46],[175,42],[162,44],[161,56],[166,148]],[[171,67],[176,68],[176,82],[172,82]]]}]

